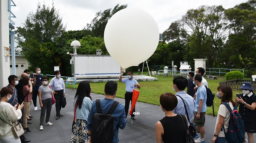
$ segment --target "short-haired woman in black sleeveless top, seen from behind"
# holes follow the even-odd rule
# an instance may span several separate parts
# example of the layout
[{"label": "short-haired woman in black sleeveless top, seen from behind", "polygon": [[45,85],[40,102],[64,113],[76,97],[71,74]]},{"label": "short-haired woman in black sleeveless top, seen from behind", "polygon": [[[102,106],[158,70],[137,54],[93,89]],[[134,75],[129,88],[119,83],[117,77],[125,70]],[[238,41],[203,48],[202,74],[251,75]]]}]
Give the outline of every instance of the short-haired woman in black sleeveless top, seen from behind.
[{"label": "short-haired woman in black sleeveless top, seen from behind", "polygon": [[172,93],[167,92],[160,96],[160,104],[165,117],[159,120],[155,127],[157,143],[186,143],[187,135],[184,132],[187,128],[184,126],[182,117],[173,113],[178,99]]}]

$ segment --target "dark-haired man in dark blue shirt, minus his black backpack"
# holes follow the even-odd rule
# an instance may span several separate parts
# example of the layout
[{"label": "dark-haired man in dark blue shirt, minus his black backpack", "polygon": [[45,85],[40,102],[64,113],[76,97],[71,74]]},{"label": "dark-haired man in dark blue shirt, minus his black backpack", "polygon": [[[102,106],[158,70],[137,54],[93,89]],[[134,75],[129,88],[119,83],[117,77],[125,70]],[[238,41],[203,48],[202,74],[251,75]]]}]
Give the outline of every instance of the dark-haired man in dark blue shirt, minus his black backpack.
[{"label": "dark-haired man in dark blue shirt, minus his black backpack", "polygon": [[[107,113],[114,103],[114,98],[116,97],[117,93],[117,83],[114,81],[109,81],[105,84],[105,98],[101,99],[101,110],[102,113]],[[97,108],[95,101],[93,102],[91,106],[91,111],[88,116],[87,120],[87,128],[89,130],[89,141],[91,143],[91,127],[93,123],[93,115],[97,113]],[[125,111],[124,111],[124,105],[119,103],[112,113],[112,116],[114,117],[114,138],[112,143],[118,143],[118,128],[124,129],[126,125],[126,117],[125,117]]]}]

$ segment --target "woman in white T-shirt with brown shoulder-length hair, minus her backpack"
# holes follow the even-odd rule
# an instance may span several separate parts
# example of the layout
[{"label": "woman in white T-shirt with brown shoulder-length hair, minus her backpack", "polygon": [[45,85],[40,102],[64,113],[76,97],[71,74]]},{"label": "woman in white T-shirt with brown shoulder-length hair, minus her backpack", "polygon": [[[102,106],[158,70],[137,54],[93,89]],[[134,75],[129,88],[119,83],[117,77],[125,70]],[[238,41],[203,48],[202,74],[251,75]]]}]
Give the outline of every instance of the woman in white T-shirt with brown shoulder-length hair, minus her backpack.
[{"label": "woman in white T-shirt with brown shoulder-length hair, minus her backpack", "polygon": [[[234,106],[236,106],[236,103],[232,100],[232,89],[229,86],[219,86],[217,90],[217,97],[221,99],[221,102],[226,102],[227,104],[229,104],[231,110],[234,110]],[[225,132],[227,132],[230,116],[231,115],[229,109],[224,104],[221,104],[219,106],[212,143],[227,143],[222,126],[224,125]]]}]

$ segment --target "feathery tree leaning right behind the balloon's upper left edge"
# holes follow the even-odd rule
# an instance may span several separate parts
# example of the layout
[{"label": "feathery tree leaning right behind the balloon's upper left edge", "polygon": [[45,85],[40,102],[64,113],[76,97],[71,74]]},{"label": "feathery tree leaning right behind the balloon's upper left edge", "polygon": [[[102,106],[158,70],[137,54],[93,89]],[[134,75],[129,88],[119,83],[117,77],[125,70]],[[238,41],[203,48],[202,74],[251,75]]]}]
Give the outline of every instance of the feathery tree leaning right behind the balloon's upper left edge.
[{"label": "feathery tree leaning right behind the balloon's upper left edge", "polygon": [[106,9],[105,11],[97,12],[94,19],[91,21],[91,23],[87,23],[86,27],[84,29],[87,29],[88,31],[91,31],[91,36],[95,37],[104,37],[104,31],[105,27],[108,23],[108,20],[111,16],[113,16],[116,12],[120,11],[121,9],[127,8],[128,5],[120,5],[117,4],[113,10],[112,8]]}]

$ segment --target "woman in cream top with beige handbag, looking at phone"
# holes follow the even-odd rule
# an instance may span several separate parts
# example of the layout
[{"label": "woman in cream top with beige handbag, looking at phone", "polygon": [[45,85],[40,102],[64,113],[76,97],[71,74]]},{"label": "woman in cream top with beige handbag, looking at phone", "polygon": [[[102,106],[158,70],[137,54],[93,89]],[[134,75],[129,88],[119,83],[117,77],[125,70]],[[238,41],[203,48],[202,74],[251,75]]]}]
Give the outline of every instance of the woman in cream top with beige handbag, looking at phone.
[{"label": "woman in cream top with beige handbag, looking at phone", "polygon": [[23,103],[20,105],[17,103],[15,106],[8,103],[13,93],[14,91],[8,87],[4,87],[0,91],[0,143],[20,143],[19,138],[14,138],[11,124],[21,118]]}]

